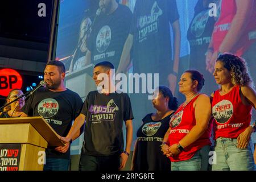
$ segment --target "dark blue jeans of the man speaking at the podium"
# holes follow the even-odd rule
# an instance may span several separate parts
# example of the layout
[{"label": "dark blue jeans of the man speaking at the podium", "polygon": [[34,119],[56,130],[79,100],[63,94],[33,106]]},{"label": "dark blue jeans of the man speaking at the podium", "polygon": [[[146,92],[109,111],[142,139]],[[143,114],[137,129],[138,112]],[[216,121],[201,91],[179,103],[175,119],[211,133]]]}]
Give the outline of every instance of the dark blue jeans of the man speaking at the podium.
[{"label": "dark blue jeans of the man speaking at the podium", "polygon": [[69,159],[51,159],[46,158],[44,164],[44,171],[68,171]]}]

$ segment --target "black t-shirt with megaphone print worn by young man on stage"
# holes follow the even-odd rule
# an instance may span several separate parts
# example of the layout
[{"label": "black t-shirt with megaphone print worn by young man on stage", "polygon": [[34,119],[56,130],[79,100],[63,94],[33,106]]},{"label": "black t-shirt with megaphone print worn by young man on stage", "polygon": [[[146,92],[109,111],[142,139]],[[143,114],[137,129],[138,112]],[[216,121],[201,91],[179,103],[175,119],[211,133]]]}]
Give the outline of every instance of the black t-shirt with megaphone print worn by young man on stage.
[{"label": "black t-shirt with megaphone print worn by young man on stage", "polygon": [[88,94],[81,114],[86,116],[84,130],[85,155],[114,155],[123,151],[123,121],[133,119],[130,98],[126,93]]}]

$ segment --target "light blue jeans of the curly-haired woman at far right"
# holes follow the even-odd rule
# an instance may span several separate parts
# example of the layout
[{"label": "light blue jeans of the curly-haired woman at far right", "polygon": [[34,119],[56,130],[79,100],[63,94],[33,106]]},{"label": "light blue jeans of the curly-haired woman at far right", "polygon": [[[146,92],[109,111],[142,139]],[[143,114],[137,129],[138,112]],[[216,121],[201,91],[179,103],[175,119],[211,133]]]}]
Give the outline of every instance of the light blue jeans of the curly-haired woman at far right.
[{"label": "light blue jeans of the curly-haired woman at far right", "polygon": [[213,171],[253,171],[253,152],[251,140],[245,149],[237,148],[237,139],[217,138],[216,140],[216,164]]}]

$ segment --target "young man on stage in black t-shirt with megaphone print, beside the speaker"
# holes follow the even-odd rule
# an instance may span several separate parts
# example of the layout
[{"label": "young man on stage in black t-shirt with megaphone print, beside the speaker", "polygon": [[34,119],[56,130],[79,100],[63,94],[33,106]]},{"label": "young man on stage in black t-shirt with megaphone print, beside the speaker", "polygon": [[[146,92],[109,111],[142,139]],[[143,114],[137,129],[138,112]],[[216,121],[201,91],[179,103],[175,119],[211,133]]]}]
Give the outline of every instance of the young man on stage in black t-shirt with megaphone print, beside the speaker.
[{"label": "young man on stage in black t-shirt with megaphone print, beside the speaker", "polygon": [[[101,90],[90,92],[84,101],[81,113],[76,118],[64,142],[69,142],[84,125],[79,169],[86,171],[118,171],[127,162],[133,138],[133,111],[126,93],[115,91],[111,81],[113,64],[108,61],[98,63],[93,69],[93,79],[97,86],[108,80]],[[106,80],[100,80],[105,73]],[[98,80],[99,79],[99,80]],[[126,125],[126,146],[123,142],[123,121]],[[121,157],[121,164],[119,159]]]}]

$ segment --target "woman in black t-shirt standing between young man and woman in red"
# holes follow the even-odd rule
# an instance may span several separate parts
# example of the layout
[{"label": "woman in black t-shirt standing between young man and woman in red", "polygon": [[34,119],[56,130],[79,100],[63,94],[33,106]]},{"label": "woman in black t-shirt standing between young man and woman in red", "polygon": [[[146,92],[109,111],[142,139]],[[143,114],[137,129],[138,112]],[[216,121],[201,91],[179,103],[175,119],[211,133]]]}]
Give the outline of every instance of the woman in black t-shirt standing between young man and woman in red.
[{"label": "woman in black t-shirt standing between young man and woman in red", "polygon": [[177,99],[166,86],[159,86],[152,105],[156,112],[147,114],[137,131],[131,169],[134,171],[170,171],[171,163],[161,151],[164,134],[169,128],[171,115],[177,109]]}]

